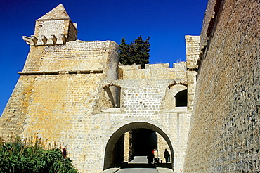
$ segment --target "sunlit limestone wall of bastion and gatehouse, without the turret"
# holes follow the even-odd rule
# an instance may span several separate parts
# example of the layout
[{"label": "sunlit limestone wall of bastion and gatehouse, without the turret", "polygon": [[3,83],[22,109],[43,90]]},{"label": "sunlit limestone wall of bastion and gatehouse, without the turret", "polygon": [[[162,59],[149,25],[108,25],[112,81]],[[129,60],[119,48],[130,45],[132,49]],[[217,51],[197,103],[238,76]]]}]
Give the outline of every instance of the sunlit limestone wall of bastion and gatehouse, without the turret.
[{"label": "sunlit limestone wall of bastion and gatehouse, without the turret", "polygon": [[[117,139],[112,136],[117,131],[121,134],[120,129],[128,124],[141,124],[129,125],[122,134],[136,128],[158,132],[164,139],[161,148],[169,148],[173,167],[181,169],[190,117],[186,107],[176,108],[174,96],[187,89],[186,75],[178,79],[116,80],[117,68],[113,67],[117,62],[117,44],[112,41],[31,46],[1,116],[1,132],[59,141],[79,172],[102,172],[111,164],[105,158],[113,157],[110,149],[106,151],[115,147]],[[154,66],[148,69],[164,72],[161,65]],[[186,63],[177,66],[184,71]],[[169,69],[174,68],[166,71]],[[121,96],[113,95],[121,98],[120,108],[97,110],[97,105],[109,102],[102,98],[104,85],[121,88]]]}]

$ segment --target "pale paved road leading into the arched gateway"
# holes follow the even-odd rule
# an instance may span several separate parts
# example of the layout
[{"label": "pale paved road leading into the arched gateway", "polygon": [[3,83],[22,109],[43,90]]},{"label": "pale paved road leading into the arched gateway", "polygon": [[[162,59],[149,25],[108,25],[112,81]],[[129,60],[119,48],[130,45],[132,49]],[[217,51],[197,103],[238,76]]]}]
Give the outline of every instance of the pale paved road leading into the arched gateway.
[{"label": "pale paved road leading into the arched gateway", "polygon": [[158,173],[155,165],[148,165],[146,156],[135,156],[134,160],[122,167],[117,173]]}]

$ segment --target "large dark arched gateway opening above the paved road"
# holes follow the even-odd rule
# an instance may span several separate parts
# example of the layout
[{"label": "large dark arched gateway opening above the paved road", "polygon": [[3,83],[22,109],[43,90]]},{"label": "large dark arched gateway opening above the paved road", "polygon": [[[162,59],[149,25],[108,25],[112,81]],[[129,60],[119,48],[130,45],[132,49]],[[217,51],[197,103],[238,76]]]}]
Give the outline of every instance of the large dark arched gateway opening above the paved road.
[{"label": "large dark arched gateway opening above the paved road", "polygon": [[[169,152],[171,153],[171,168],[174,169],[174,149],[167,134],[153,124],[133,122],[120,127],[110,136],[105,147],[104,170],[110,167],[118,167],[118,164],[122,164],[124,161],[125,137],[127,137],[124,134],[126,132],[131,133],[130,140],[132,140],[130,145],[127,146],[129,147],[129,153],[127,153],[129,160],[137,155],[147,155],[147,152],[150,150],[157,149],[157,134],[160,134],[165,143],[167,143],[167,148],[169,148]],[[145,140],[148,140],[149,143],[145,142]]]}]

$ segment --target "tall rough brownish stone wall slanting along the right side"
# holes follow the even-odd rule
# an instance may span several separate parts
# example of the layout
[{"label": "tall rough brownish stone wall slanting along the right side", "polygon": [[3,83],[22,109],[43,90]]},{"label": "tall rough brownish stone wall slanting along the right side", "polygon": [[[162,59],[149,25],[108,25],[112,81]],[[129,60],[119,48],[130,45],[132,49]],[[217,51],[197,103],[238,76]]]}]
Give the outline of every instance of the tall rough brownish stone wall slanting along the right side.
[{"label": "tall rough brownish stone wall slanting along the right side", "polygon": [[259,8],[209,1],[184,172],[260,171]]}]

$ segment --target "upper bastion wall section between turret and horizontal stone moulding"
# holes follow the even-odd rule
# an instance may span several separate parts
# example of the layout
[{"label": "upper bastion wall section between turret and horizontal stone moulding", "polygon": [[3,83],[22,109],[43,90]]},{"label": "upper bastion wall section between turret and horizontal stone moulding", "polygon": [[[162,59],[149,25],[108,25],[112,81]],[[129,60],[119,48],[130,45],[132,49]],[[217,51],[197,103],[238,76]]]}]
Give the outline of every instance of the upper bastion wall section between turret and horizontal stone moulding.
[{"label": "upper bastion wall section between turret and horizontal stone moulding", "polygon": [[[108,68],[105,66],[108,65],[110,53],[114,51],[117,52],[117,46],[112,41],[70,41],[65,45],[33,46],[23,72],[77,73],[87,70],[107,72]],[[117,63],[114,71],[116,67]]]}]

